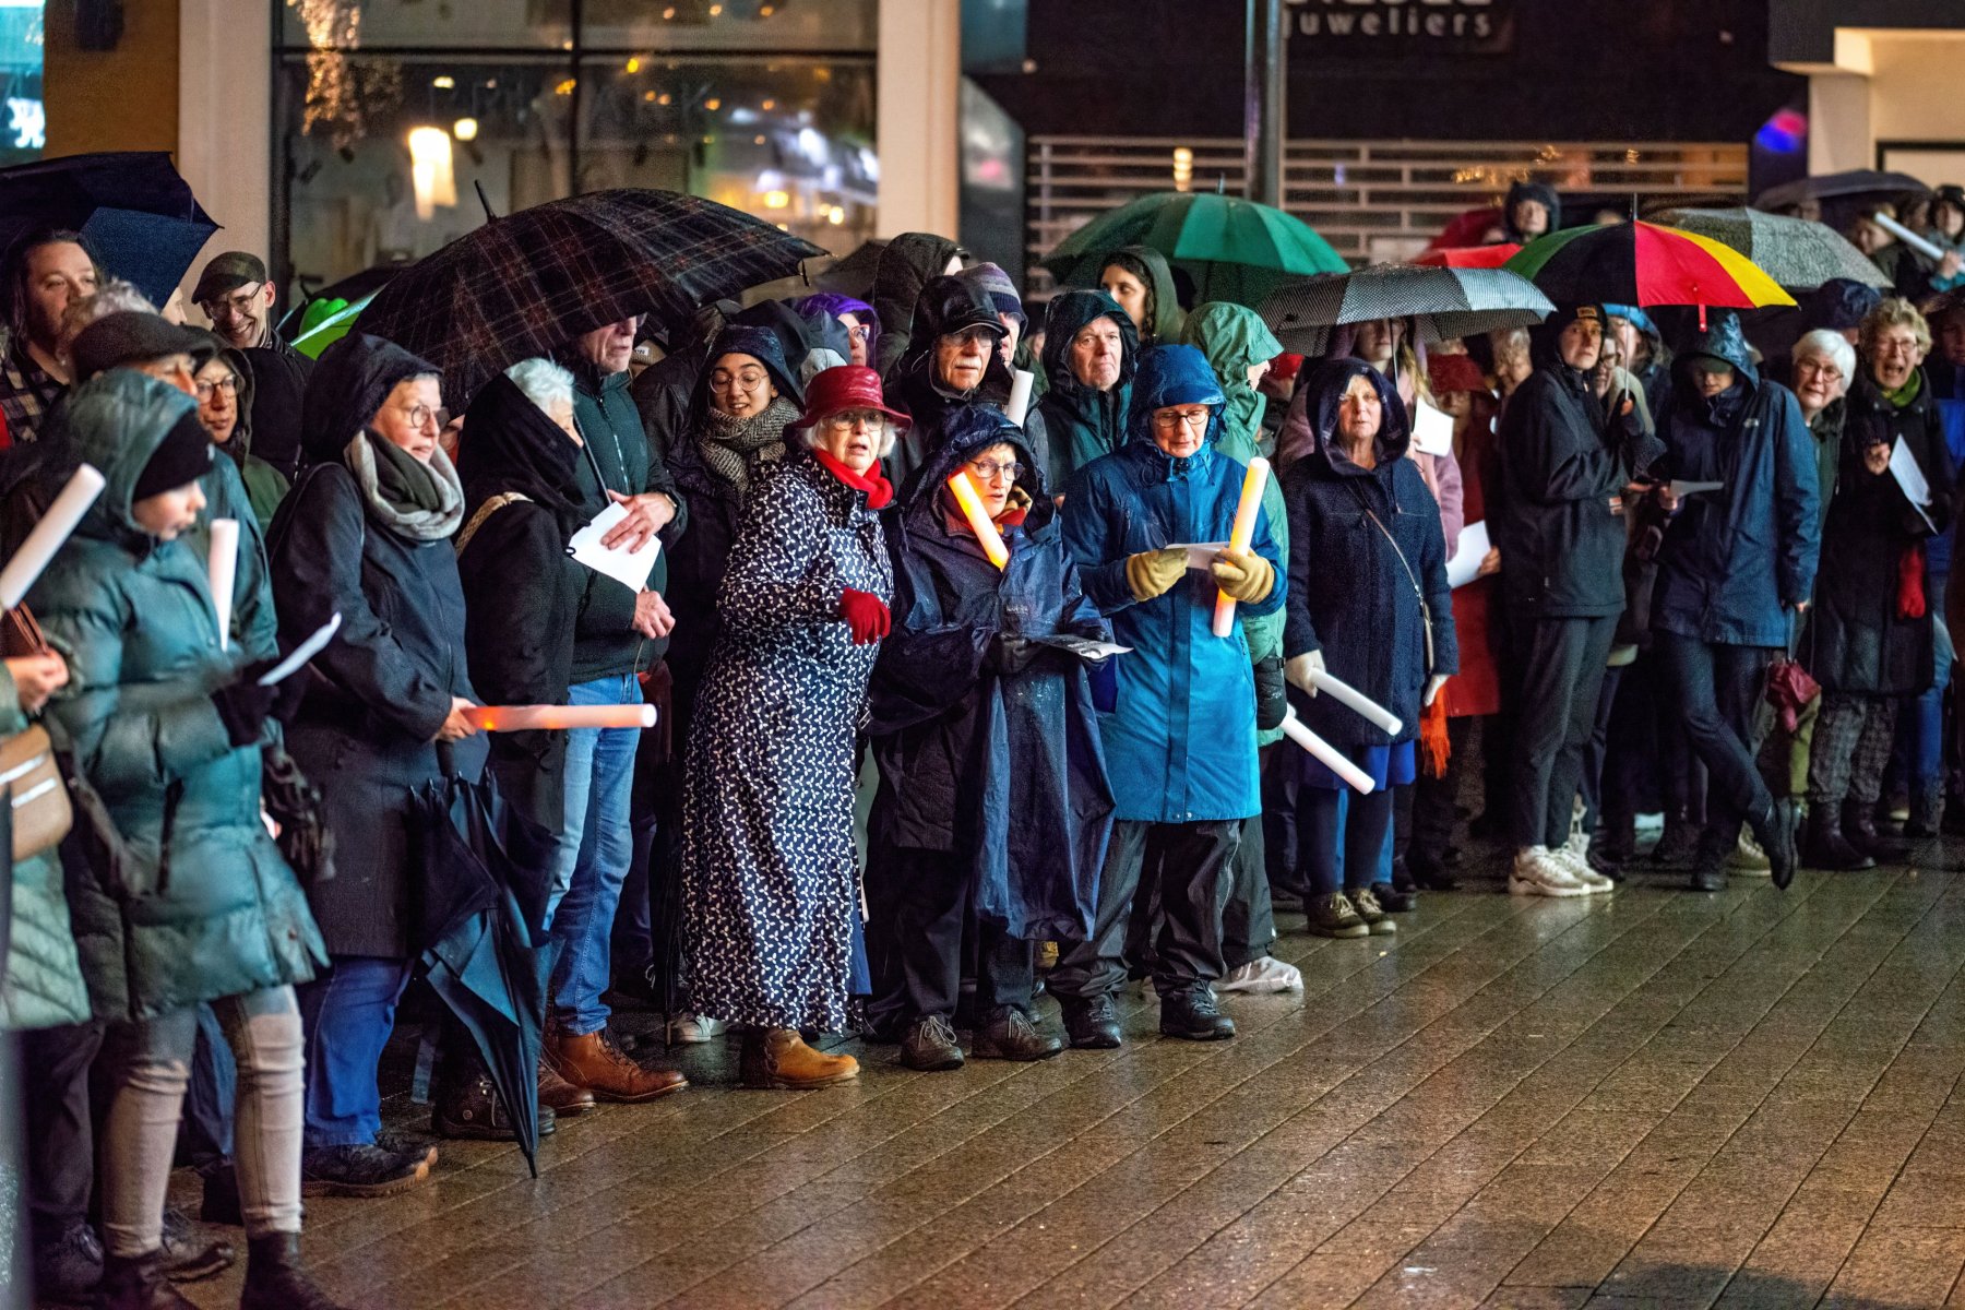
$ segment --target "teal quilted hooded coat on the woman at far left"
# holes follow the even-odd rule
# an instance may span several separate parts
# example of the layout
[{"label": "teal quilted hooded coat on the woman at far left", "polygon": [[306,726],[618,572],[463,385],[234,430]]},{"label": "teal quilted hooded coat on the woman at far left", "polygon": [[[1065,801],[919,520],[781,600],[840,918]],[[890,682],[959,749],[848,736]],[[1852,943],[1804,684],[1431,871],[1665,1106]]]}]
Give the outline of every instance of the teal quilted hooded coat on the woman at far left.
[{"label": "teal quilted hooded coat on the woman at far left", "polygon": [[220,650],[193,536],[159,542],[130,517],[143,465],[185,420],[191,397],[134,371],[69,395],[75,450],[108,485],[28,597],[73,652],[75,693],[51,713],[132,856],[130,886],[77,866],[67,888],[94,1015],[112,1021],[309,982],[326,964],[259,821],[259,746],[234,746],[210,699],[271,640]]}]

